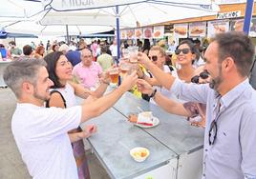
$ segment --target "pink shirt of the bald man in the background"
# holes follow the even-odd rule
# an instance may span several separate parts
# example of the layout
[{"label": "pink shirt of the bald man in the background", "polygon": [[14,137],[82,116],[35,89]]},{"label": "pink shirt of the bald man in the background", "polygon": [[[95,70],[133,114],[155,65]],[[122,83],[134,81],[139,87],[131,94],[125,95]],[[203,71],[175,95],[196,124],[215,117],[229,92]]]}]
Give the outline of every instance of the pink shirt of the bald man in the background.
[{"label": "pink shirt of the bald man in the background", "polygon": [[102,68],[96,62],[92,62],[89,68],[80,62],[73,69],[73,74],[79,78],[80,83],[87,89],[96,88],[101,73]]}]

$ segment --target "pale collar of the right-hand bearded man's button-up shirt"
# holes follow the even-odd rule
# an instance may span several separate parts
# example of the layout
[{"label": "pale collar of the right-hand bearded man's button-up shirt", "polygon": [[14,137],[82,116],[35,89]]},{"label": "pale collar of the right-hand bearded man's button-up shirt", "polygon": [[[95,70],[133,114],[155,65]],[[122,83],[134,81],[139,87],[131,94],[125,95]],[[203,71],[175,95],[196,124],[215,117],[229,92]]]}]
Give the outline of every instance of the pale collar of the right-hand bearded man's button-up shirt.
[{"label": "pale collar of the right-hand bearded man's button-up shirt", "polygon": [[227,108],[233,101],[235,101],[242,93],[244,93],[245,89],[249,86],[248,79],[246,78],[244,82],[237,85],[235,88],[229,90],[224,96],[221,98],[221,104],[224,108]]}]

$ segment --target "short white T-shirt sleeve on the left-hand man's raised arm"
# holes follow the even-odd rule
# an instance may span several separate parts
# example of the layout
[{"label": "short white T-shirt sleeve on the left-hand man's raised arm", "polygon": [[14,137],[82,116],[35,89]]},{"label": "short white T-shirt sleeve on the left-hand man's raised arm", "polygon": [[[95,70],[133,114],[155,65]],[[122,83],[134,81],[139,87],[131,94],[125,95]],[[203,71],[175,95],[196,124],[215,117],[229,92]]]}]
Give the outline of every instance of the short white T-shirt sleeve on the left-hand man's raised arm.
[{"label": "short white T-shirt sleeve on the left-hand man's raised arm", "polygon": [[80,106],[69,109],[52,107],[38,111],[34,116],[36,120],[32,122],[29,129],[30,133],[34,134],[32,140],[42,138],[51,140],[55,136],[78,128],[81,122],[81,113]]}]

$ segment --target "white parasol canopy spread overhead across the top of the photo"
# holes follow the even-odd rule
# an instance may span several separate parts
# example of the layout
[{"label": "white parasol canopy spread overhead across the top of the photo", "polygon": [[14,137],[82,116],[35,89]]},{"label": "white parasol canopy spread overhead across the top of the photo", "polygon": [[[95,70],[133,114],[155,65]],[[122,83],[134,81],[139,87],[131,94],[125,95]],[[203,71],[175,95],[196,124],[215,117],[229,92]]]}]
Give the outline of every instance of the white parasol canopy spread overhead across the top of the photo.
[{"label": "white parasol canopy spread overhead across the top of the photo", "polygon": [[[116,5],[119,6],[117,14]],[[102,8],[105,7],[105,8]],[[98,9],[100,8],[100,9]],[[7,0],[0,7],[0,26],[37,35],[94,33],[217,13],[210,0]]]}]

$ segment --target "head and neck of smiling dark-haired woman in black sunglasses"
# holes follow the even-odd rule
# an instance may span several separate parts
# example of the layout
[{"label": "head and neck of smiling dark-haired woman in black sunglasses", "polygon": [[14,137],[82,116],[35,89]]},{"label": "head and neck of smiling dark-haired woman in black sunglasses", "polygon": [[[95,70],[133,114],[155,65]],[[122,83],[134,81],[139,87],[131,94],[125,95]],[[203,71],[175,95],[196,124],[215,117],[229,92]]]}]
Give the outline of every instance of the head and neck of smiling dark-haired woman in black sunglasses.
[{"label": "head and neck of smiling dark-haired woman in black sunglasses", "polygon": [[199,51],[196,49],[195,45],[189,40],[182,41],[175,50],[175,54],[177,55],[176,63],[181,66],[181,69],[177,70],[178,76],[186,83],[190,83],[193,77],[195,69],[192,63],[198,53]]}]

